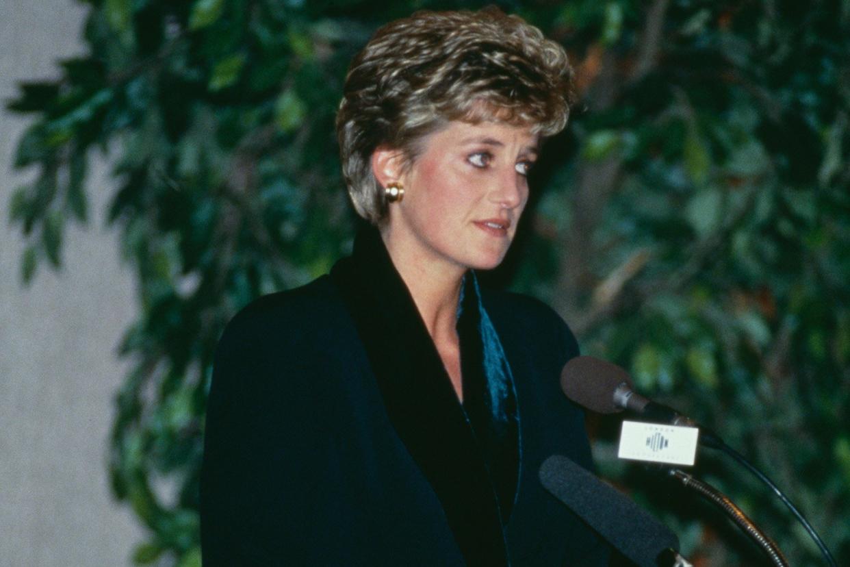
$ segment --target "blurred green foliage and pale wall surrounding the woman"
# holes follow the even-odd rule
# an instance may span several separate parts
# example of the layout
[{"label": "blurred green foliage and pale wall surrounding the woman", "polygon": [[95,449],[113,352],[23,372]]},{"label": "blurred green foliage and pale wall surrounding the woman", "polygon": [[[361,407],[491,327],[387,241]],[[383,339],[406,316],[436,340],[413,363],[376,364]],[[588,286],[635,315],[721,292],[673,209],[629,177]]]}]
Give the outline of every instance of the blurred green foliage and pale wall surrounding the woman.
[{"label": "blurred green foliage and pale wall surrounding the woman", "polygon": [[[0,4],[0,564],[200,564],[212,351],[258,295],[323,274],[357,221],[333,117],[408,0]],[[492,286],[714,428],[850,564],[850,2],[496,2],[562,43],[580,103]],[[699,565],[766,564],[716,510],[600,473]],[[701,451],[793,565],[823,564]]]}]

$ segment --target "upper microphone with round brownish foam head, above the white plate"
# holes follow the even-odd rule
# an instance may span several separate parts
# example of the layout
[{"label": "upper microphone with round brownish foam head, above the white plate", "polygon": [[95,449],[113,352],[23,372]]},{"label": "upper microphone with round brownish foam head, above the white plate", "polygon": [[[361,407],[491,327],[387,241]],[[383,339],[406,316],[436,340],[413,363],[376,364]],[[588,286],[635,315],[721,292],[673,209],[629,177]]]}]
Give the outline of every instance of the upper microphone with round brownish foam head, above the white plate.
[{"label": "upper microphone with round brownish foam head, above the white plate", "polygon": [[629,410],[651,422],[700,428],[700,444],[719,447],[723,439],[668,405],[632,389],[632,377],[620,366],[592,356],[576,356],[561,371],[561,389],[570,400],[598,413]]}]

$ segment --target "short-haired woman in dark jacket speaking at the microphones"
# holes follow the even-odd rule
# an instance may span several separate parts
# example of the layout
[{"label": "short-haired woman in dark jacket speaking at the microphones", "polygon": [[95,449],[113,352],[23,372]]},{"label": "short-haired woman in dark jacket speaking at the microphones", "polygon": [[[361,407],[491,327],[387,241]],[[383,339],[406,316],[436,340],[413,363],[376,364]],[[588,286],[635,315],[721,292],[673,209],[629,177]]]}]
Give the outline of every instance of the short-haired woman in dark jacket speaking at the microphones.
[{"label": "short-haired woman in dark jacket speaking at the microphones", "polygon": [[551,309],[479,290],[566,123],[564,50],[496,9],[417,13],[354,59],[343,173],[374,228],[330,275],[252,303],[218,347],[201,473],[204,564],[604,564],[541,487],[590,467]]}]

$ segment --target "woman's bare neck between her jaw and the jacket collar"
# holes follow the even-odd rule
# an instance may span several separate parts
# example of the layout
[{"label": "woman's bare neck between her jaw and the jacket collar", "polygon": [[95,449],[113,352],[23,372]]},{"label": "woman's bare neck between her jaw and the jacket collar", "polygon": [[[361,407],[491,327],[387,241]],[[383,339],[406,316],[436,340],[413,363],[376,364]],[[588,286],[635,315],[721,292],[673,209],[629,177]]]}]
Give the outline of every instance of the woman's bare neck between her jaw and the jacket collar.
[{"label": "woman's bare neck between her jaw and the jacket collar", "polygon": [[381,237],[428,334],[434,341],[456,337],[457,302],[466,269],[455,264],[435,262],[433,258],[420,258],[417,247],[405,246],[390,231],[382,230]]}]

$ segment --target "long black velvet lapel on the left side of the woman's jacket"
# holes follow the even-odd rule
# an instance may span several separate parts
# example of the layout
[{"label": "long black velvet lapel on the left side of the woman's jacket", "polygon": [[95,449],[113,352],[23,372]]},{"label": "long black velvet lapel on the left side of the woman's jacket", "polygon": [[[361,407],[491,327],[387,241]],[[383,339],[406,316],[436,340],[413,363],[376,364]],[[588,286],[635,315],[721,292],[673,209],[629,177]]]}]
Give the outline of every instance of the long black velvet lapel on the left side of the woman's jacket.
[{"label": "long black velvet lapel on the left side of the woman's jacket", "polygon": [[390,422],[428,479],[468,565],[507,565],[484,458],[416,304],[375,229],[331,279],[354,319]]}]

